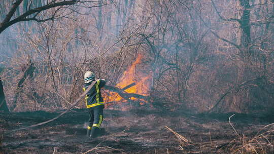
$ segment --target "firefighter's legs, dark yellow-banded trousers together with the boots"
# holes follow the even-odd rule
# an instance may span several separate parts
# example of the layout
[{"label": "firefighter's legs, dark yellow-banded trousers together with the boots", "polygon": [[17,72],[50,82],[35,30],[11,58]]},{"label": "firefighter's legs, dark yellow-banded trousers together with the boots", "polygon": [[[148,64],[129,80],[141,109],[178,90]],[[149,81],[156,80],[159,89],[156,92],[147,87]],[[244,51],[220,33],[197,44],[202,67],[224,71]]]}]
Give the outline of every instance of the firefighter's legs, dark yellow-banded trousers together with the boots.
[{"label": "firefighter's legs, dark yellow-banded trousers together with the boots", "polygon": [[[103,105],[98,105],[89,108],[89,119],[88,119],[88,136],[97,137],[98,129],[100,128],[103,121]],[[91,133],[89,133],[91,131]]]}]

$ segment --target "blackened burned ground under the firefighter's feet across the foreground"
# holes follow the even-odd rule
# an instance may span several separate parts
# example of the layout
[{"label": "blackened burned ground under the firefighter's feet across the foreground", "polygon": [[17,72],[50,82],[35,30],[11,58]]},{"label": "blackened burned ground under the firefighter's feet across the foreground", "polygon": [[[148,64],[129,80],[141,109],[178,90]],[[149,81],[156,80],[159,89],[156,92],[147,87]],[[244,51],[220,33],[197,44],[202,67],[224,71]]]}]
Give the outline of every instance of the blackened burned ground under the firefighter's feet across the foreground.
[{"label": "blackened burned ground under the firefighter's feet across the foreground", "polygon": [[[56,117],[61,111],[0,113],[2,153],[232,153],[248,144],[273,121],[265,116],[235,114],[187,114],[183,111],[135,109],[105,110],[102,131],[95,139],[85,137],[88,111],[75,109],[61,118],[29,130],[9,131],[37,124]],[[269,117],[269,116],[268,116]],[[188,143],[180,141],[182,135]],[[258,133],[258,134],[257,134]],[[257,134],[257,135],[256,135]],[[265,134],[265,148],[257,152],[272,152],[271,133]],[[252,143],[253,144],[253,143]],[[258,143],[257,143],[258,144]],[[241,146],[242,145],[242,146]],[[266,149],[263,151],[263,149]],[[247,149],[246,149],[247,150]],[[89,152],[87,152],[89,151]],[[250,153],[253,150],[251,149]]]}]

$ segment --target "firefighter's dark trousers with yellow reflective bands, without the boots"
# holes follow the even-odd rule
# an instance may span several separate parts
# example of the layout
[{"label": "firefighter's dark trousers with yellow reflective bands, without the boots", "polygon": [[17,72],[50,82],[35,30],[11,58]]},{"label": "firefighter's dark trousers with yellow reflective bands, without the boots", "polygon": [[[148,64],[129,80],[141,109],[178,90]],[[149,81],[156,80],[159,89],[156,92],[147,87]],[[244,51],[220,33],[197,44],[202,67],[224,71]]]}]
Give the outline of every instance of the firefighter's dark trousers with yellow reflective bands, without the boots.
[{"label": "firefighter's dark trousers with yellow reflective bands, without the boots", "polygon": [[89,109],[88,127],[90,127],[90,128],[91,127],[100,128],[103,120],[104,120],[103,107],[97,107],[97,108],[90,108]]}]

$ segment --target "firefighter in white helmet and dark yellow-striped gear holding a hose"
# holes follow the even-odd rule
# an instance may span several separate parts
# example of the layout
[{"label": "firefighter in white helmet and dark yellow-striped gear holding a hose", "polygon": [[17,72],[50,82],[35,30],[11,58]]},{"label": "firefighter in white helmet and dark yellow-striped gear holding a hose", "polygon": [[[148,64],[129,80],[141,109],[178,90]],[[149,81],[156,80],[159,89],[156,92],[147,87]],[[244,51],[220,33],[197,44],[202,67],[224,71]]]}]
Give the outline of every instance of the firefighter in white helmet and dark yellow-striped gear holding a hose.
[{"label": "firefighter in white helmet and dark yellow-striped gear holding a hose", "polygon": [[105,108],[103,98],[101,96],[100,89],[106,85],[105,79],[96,79],[95,74],[92,71],[87,71],[84,75],[85,87],[84,91],[88,86],[96,81],[93,87],[88,91],[85,97],[85,103],[89,109],[89,119],[87,126],[87,137],[95,138],[98,134],[98,129],[103,121],[103,109]]}]

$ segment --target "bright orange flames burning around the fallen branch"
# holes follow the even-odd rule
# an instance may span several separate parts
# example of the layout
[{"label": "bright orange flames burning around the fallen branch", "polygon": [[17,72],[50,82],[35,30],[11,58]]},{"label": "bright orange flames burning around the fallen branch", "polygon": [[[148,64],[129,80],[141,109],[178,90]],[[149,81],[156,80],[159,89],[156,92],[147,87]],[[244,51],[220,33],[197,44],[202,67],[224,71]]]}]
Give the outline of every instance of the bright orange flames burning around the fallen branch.
[{"label": "bright orange flames burning around the fallen branch", "polygon": [[[120,82],[116,85],[116,87],[123,89],[128,85],[134,84],[124,91],[127,93],[134,93],[143,96],[147,96],[149,92],[149,80],[151,78],[151,74],[144,75],[144,73],[136,73],[136,65],[142,62],[143,56],[141,54],[138,55],[136,60],[123,72],[122,78]],[[145,77],[144,77],[145,76]],[[136,100],[136,98],[131,97],[130,100]],[[119,94],[115,92],[110,92],[109,96],[106,99],[107,102],[124,102],[126,101]],[[145,100],[142,100],[145,102]],[[142,103],[140,103],[142,104]]]}]

